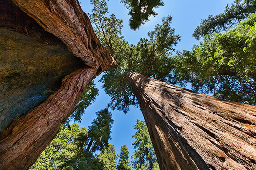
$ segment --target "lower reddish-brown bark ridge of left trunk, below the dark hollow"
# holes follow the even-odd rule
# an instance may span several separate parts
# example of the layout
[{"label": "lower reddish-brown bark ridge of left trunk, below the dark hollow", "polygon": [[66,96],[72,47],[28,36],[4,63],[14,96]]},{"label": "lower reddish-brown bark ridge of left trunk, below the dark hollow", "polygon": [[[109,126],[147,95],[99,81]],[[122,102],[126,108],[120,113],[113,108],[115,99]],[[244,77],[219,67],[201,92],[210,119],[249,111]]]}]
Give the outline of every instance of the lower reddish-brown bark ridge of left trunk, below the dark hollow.
[{"label": "lower reddish-brown bark ridge of left trunk, below the dark hollow", "polygon": [[58,91],[1,133],[1,170],[26,170],[36,161],[73,112],[95,74],[96,69],[86,67],[66,76]]}]

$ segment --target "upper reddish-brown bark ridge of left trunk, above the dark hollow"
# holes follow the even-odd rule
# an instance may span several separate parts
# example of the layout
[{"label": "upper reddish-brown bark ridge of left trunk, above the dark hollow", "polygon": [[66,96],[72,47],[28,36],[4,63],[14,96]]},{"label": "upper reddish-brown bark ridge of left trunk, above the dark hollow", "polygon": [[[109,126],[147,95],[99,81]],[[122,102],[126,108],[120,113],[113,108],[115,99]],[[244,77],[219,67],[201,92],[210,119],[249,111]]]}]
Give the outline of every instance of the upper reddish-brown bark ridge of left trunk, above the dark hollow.
[{"label": "upper reddish-brown bark ridge of left trunk, above the dark hollow", "polygon": [[46,31],[60,38],[86,65],[98,69],[98,74],[115,66],[115,60],[96,37],[77,0],[12,1]]}]

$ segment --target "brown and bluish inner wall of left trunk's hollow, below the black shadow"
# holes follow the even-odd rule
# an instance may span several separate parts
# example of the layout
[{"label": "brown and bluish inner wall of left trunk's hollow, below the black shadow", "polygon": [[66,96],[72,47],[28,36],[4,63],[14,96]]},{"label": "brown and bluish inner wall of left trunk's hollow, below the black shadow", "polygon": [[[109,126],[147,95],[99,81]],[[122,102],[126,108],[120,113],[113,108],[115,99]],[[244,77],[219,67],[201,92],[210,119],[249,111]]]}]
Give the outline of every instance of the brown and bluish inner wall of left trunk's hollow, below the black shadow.
[{"label": "brown and bluish inner wall of left trunk's hollow, below the black shadow", "polygon": [[0,28],[0,133],[81,67],[83,61],[61,46]]}]

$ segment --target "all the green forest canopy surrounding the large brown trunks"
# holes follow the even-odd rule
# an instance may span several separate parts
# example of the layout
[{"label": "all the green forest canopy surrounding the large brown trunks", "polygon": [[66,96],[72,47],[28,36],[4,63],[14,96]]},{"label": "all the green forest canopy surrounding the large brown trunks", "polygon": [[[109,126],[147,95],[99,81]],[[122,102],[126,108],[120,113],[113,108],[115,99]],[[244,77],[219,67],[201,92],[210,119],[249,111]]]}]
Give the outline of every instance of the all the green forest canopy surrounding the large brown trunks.
[{"label": "all the green forest canopy surrounding the large brown trunks", "polygon": [[[134,6],[132,0],[122,2],[131,10],[132,29],[137,29],[148,20],[142,15],[140,19],[133,18],[133,15],[137,16],[136,10],[141,12],[141,8],[147,6],[147,0],[141,1],[140,6]],[[194,45],[191,51],[177,51],[176,54],[175,45],[180,41],[180,36],[176,35],[175,29],[171,27],[171,16],[162,18],[162,23],[148,32],[148,38],[140,38],[137,44],[129,44],[122,37],[123,21],[116,18],[115,14],[108,14],[107,1],[91,0],[91,3],[94,8],[89,16],[94,31],[118,63],[115,68],[106,71],[100,80],[106,94],[111,97],[108,107],[127,113],[130,105],[138,106],[135,94],[125,79],[125,74],[131,71],[180,86],[190,83],[191,88],[197,92],[211,93],[220,99],[255,105],[254,0],[237,0],[235,4],[227,6],[223,14],[202,20],[193,34],[197,39],[202,36],[199,45]],[[155,5],[150,8],[162,5],[162,1],[156,0]],[[152,10],[147,13],[148,17],[150,15],[156,13]],[[59,134],[31,169],[159,169],[144,121],[137,120],[134,125],[137,132],[133,136],[136,150],[131,157],[132,164],[126,145],[123,145],[120,154],[116,155],[114,145],[108,144],[113,124],[108,109],[96,113],[97,118],[88,130],[84,127],[79,129],[77,124],[68,125],[72,120],[81,121],[85,109],[94,102],[96,95],[98,89],[95,88],[94,82],[91,82],[66,126],[61,126]],[[46,159],[50,160],[47,164]]]}]

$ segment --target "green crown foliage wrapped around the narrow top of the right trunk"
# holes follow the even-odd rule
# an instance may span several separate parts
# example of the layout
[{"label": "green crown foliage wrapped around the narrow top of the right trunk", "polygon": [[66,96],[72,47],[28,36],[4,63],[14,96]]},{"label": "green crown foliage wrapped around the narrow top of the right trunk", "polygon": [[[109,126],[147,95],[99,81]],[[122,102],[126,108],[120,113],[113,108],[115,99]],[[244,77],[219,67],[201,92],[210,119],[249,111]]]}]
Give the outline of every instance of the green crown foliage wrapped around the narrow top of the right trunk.
[{"label": "green crown foliage wrapped around the narrow top of the right trunk", "polygon": [[[173,46],[179,41],[179,36],[174,34],[170,27],[171,17],[162,19],[161,25],[156,25],[154,31],[148,32],[148,38],[141,38],[138,44],[129,45],[124,40],[117,45],[117,52],[113,57],[118,66],[106,71],[101,78],[106,94],[111,96],[113,109],[128,112],[129,105],[137,105],[134,93],[125,81],[124,72],[134,71],[161,81],[166,81],[169,67],[172,63],[171,52]],[[118,56],[118,57],[117,57]]]}]

